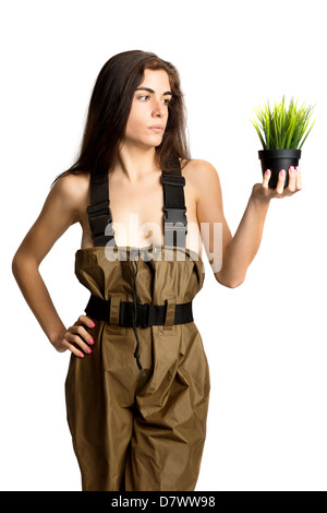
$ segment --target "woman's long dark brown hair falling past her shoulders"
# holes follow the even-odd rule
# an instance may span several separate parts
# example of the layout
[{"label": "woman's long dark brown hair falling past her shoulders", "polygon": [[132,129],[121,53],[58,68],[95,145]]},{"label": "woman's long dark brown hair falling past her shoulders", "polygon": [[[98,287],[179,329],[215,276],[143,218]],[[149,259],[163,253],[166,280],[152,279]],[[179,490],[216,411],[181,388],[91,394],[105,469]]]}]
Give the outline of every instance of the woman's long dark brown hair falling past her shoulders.
[{"label": "woman's long dark brown hair falling past her shoulders", "polygon": [[161,144],[156,146],[157,165],[168,170],[173,158],[191,159],[185,136],[186,111],[178,70],[156,53],[129,50],[111,57],[100,70],[90,96],[81,150],[76,162],[57,176],[105,174],[110,171],[124,136],[132,100],[144,70],[165,70],[172,92]]}]

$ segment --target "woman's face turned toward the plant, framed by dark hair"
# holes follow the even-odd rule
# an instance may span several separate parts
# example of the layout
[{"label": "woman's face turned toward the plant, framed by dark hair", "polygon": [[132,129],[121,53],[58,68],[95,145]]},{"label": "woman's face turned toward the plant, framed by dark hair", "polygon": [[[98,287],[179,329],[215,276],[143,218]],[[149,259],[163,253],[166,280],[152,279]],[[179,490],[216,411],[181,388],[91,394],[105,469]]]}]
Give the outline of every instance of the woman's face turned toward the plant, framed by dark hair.
[{"label": "woman's face turned toward the plant, framed by dark hair", "polygon": [[[146,147],[161,144],[171,96],[169,77],[165,70],[144,70],[143,81],[134,93],[125,142]],[[150,128],[153,126],[160,126],[161,130],[156,131]]]}]

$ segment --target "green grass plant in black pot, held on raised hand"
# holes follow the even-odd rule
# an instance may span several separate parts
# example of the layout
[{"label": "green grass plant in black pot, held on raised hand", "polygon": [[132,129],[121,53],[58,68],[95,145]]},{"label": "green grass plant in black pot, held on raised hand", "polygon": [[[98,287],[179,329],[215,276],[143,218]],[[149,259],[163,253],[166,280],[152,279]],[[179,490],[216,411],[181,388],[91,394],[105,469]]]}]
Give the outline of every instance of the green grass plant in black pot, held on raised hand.
[{"label": "green grass plant in black pot, held on raised hand", "polygon": [[281,104],[275,103],[272,110],[268,100],[264,108],[254,109],[256,118],[251,121],[264,147],[258,152],[263,175],[266,169],[271,171],[269,188],[275,189],[277,187],[278,175],[281,169],[286,171],[284,187],[287,187],[289,183],[289,167],[299,166],[301,148],[315,123],[314,121],[306,131],[313,108],[314,106],[305,108],[304,105],[298,108],[298,100],[294,104],[293,98],[291,98],[287,109],[283,95]]}]

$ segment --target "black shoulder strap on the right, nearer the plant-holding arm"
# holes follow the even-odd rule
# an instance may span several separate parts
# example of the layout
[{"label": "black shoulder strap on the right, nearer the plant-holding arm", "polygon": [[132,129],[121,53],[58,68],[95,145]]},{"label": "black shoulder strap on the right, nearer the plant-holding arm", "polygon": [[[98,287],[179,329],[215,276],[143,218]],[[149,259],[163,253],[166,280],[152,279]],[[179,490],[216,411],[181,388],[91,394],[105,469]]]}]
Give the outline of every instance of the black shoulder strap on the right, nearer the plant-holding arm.
[{"label": "black shoulder strap on the right, nearer the plant-holding arm", "polygon": [[169,160],[167,170],[161,172],[161,183],[164,186],[165,246],[185,248],[187,234],[185,178],[182,176],[179,157]]}]

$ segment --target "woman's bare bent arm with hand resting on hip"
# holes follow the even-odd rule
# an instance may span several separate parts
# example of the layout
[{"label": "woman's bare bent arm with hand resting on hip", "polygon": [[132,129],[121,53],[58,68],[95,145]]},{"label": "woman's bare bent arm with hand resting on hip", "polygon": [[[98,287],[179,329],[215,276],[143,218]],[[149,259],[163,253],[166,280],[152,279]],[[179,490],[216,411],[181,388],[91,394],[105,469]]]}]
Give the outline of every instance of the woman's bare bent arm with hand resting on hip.
[{"label": "woman's bare bent arm with hand resting on hip", "polygon": [[90,335],[83,324],[90,326],[92,320],[81,315],[78,321],[66,330],[38,267],[55,242],[78,220],[78,205],[86,193],[86,180],[81,177],[70,175],[60,178],[50,190],[38,218],[12,260],[12,272],[19,287],[51,344],[59,351],[70,349],[80,357],[84,356],[81,349],[89,353],[84,341],[88,341]]}]

